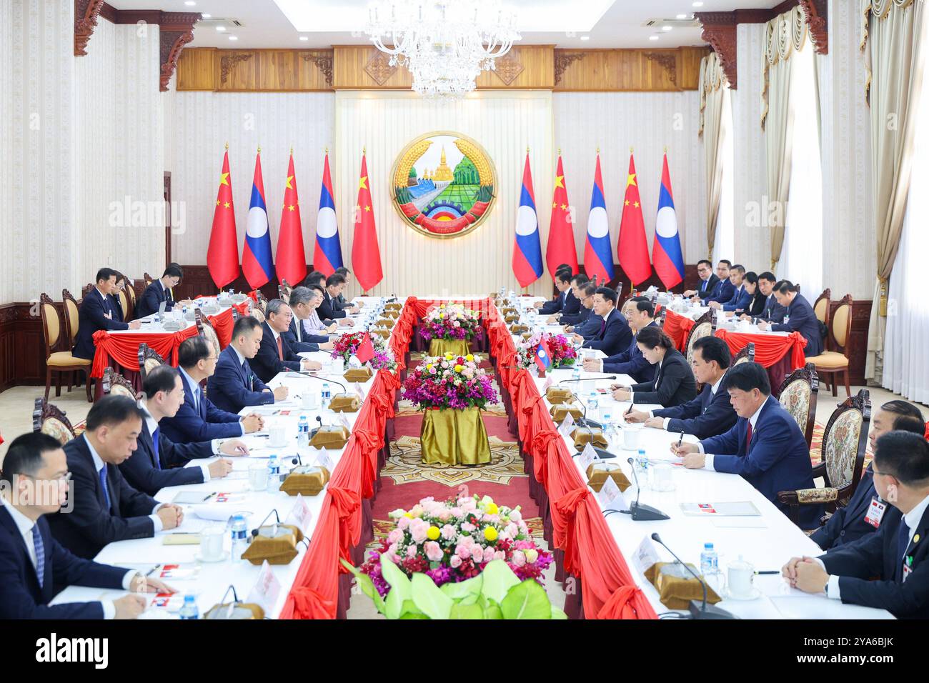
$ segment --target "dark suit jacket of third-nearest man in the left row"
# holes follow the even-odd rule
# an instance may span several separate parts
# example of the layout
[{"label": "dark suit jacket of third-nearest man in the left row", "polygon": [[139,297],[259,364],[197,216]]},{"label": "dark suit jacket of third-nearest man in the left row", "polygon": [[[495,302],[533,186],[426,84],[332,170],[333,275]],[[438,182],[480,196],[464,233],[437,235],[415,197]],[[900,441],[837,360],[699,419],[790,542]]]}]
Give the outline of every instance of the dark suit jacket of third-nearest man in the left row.
[{"label": "dark suit jacket of third-nearest man in the left row", "polygon": [[151,439],[149,426],[144,420],[137,443],[137,449],[119,468],[130,486],[149,495],[158,493],[165,486],[202,484],[203,470],[200,467],[185,467],[184,465],[193,458],[213,457],[210,441],[174,443],[159,429],[159,459],[156,465],[154,442]]}]

